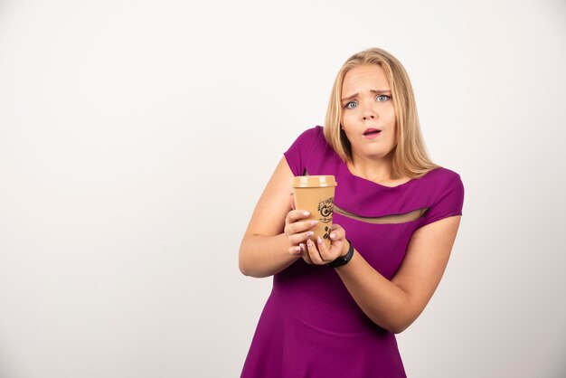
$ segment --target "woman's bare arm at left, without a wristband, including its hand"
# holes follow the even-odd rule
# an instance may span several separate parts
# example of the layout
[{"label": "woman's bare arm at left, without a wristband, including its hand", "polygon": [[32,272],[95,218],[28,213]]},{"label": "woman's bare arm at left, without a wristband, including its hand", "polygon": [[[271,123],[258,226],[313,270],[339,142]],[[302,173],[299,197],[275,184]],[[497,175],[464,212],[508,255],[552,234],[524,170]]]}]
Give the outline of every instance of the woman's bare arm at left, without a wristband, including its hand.
[{"label": "woman's bare arm at left, without a wristband, including its hand", "polygon": [[251,215],[240,246],[239,265],[246,276],[268,277],[300,258],[297,245],[307,240],[309,222],[291,209],[289,190],[293,173],[285,157],[279,161]]}]

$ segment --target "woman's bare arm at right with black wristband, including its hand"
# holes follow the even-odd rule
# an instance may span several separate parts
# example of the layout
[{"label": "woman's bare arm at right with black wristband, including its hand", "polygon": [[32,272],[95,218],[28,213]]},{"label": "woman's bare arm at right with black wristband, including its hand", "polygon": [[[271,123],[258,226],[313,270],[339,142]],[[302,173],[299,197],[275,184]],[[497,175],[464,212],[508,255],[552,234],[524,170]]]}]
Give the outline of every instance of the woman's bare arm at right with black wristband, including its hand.
[{"label": "woman's bare arm at right with black wristband, including its hand", "polygon": [[[410,239],[405,259],[391,279],[385,279],[366,260],[354,251],[348,264],[336,272],[363,312],[375,324],[392,333],[401,333],[419,317],[439,285],[448,264],[450,251],[456,239],[460,216],[432,222],[417,230]],[[344,229],[335,230],[336,240],[344,239]],[[344,243],[342,255],[348,248]],[[318,245],[320,253],[309,245],[313,262],[325,263],[325,246]],[[324,259],[324,260],[323,260]]]}]

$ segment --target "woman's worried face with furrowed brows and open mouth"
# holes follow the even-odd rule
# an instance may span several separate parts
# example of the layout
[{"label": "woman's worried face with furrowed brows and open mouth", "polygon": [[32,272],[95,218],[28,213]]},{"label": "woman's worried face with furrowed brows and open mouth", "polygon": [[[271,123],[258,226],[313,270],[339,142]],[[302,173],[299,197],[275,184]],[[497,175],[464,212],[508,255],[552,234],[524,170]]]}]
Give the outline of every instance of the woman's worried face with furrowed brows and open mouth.
[{"label": "woman's worried face with furrowed brows and open mouth", "polygon": [[395,123],[391,88],[382,68],[363,64],[348,71],[342,85],[340,124],[352,145],[352,155],[388,156],[397,144]]}]

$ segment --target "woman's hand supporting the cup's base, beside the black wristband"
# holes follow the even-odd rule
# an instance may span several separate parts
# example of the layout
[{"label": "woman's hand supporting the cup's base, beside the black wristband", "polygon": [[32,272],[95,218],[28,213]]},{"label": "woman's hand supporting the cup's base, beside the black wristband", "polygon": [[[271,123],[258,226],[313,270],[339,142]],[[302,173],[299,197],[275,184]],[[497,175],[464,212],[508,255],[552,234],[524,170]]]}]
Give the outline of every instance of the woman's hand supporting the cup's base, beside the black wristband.
[{"label": "woman's hand supporting the cup's base, beside the black wristband", "polygon": [[348,241],[346,241],[346,232],[339,224],[332,225],[330,248],[326,247],[326,244],[320,237],[317,239],[317,241],[309,239],[307,248],[301,251],[301,257],[308,264],[325,265],[341,256],[345,256],[350,248]]}]

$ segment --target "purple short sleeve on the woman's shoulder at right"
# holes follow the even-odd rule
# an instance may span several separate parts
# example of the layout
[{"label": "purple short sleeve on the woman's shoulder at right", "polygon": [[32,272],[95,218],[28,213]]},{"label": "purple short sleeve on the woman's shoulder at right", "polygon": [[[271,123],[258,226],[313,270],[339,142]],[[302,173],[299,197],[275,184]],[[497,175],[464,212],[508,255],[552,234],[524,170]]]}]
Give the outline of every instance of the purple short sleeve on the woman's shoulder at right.
[{"label": "purple short sleeve on the woman's shoulder at right", "polygon": [[452,174],[451,177],[448,179],[447,184],[441,185],[442,189],[437,200],[425,213],[424,221],[420,226],[437,222],[450,216],[462,215],[464,184],[457,173],[449,172]]}]

